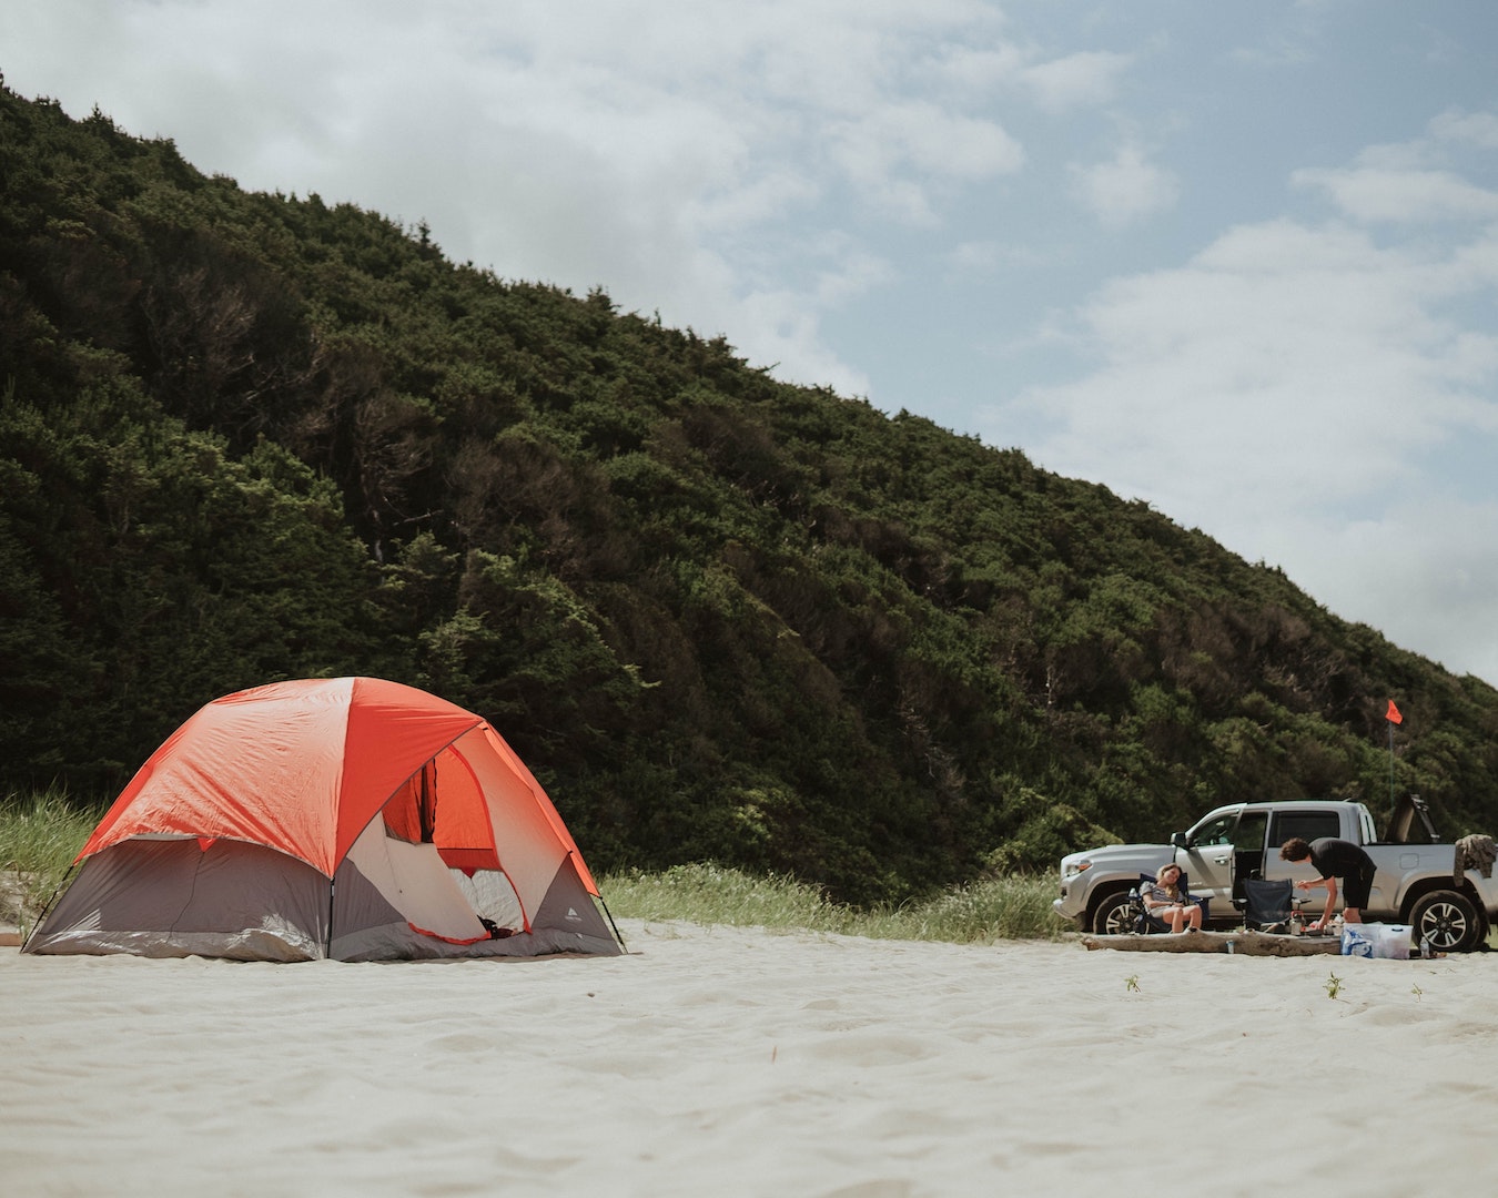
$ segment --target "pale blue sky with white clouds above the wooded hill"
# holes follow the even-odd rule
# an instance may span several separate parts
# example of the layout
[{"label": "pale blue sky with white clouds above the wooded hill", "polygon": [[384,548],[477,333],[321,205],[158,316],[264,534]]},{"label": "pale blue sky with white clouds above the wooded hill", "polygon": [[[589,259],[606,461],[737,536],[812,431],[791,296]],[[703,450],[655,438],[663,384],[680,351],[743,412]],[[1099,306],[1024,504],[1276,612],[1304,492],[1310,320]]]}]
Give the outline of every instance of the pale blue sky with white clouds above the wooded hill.
[{"label": "pale blue sky with white clouds above the wooded hill", "polygon": [[0,0],[0,72],[1498,684],[1498,3]]}]

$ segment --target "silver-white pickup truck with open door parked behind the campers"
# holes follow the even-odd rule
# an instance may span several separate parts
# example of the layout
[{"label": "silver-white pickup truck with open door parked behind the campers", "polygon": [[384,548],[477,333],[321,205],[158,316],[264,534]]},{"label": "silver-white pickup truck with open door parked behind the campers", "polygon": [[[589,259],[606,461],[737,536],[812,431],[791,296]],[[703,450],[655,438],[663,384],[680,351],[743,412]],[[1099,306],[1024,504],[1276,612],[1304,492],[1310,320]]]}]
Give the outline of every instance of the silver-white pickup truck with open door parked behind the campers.
[{"label": "silver-white pickup truck with open door parked behind the campers", "polygon": [[[1294,836],[1335,836],[1362,845],[1378,866],[1363,918],[1410,924],[1416,943],[1429,940],[1441,952],[1471,952],[1498,918],[1498,879],[1476,867],[1458,867],[1459,857],[1465,866],[1467,854],[1438,842],[1417,795],[1401,800],[1384,840],[1375,837],[1374,818],[1362,803],[1296,800],[1218,807],[1191,831],[1171,836],[1168,845],[1109,845],[1068,854],[1061,860],[1061,898],[1052,906],[1085,931],[1129,931],[1129,890],[1141,873],[1153,875],[1174,861],[1189,879],[1191,894],[1212,900],[1207,924],[1233,927],[1243,918],[1233,904],[1242,894],[1242,879],[1320,876],[1309,861],[1293,866],[1279,860],[1279,846]],[[1324,891],[1312,891],[1308,909],[1320,912],[1324,898]]]}]

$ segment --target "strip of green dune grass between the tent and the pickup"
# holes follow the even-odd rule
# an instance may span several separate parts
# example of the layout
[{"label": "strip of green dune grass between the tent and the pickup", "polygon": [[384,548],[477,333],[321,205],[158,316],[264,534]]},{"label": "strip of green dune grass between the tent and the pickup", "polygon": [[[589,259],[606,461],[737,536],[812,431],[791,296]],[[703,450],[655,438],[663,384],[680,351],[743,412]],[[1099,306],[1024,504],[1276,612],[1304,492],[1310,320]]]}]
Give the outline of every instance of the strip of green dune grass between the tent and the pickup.
[{"label": "strip of green dune grass between the tent and the pickup", "polygon": [[858,909],[834,903],[792,878],[758,876],[718,866],[631,870],[599,879],[610,910],[629,919],[680,919],[881,940],[1056,940],[1070,931],[1050,907],[1049,878],[996,878],[899,906]]}]

